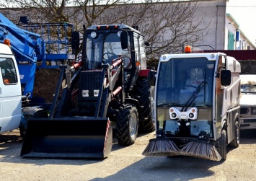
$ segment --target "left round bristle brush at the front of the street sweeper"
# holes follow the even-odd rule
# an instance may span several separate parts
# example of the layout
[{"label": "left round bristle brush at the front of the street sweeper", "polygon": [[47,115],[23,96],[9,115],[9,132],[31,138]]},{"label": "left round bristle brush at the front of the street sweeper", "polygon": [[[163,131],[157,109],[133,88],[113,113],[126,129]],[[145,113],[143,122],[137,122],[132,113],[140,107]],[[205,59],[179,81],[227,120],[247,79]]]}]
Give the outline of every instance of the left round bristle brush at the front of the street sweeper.
[{"label": "left round bristle brush at the front of the street sweeper", "polygon": [[176,156],[180,155],[180,149],[171,140],[154,138],[149,140],[142,154],[144,156]]}]

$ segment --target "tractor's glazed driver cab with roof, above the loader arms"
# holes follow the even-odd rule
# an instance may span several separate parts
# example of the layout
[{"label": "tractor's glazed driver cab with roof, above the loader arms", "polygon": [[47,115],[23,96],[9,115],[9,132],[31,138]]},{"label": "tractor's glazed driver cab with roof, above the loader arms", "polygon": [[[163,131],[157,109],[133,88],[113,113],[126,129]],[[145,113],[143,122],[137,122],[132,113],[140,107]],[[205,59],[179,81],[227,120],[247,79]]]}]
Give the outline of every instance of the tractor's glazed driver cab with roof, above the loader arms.
[{"label": "tractor's glazed driver cab with roof, above the loader arms", "polygon": [[[125,89],[131,89],[141,69],[146,69],[146,50],[141,32],[126,25],[92,26],[86,31],[87,70],[101,69],[123,60]],[[132,81],[134,81],[132,83]]]}]

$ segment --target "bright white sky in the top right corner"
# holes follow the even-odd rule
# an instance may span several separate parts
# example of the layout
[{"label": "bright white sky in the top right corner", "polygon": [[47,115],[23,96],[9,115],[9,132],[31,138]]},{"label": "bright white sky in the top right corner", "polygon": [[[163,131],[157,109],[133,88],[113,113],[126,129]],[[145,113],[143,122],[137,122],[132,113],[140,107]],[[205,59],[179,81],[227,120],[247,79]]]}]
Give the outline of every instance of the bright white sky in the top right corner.
[{"label": "bright white sky in the top right corner", "polygon": [[256,45],[256,1],[229,0],[226,3],[226,13],[234,17],[240,30]]}]

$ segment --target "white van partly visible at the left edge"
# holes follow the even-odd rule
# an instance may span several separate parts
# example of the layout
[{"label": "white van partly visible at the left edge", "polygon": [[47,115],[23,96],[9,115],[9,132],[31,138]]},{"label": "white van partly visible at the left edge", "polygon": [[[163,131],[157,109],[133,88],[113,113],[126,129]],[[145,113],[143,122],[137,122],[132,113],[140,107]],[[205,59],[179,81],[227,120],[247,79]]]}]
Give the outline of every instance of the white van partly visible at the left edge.
[{"label": "white van partly visible at the left edge", "polygon": [[19,128],[22,92],[17,63],[8,45],[0,43],[0,133]]}]

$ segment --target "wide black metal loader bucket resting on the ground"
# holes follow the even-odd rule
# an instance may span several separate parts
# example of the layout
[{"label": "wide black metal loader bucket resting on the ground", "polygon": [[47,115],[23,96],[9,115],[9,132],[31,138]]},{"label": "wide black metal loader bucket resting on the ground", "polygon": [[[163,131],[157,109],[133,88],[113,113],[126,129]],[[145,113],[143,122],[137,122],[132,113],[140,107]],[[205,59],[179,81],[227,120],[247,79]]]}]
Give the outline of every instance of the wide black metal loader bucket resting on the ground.
[{"label": "wide black metal loader bucket resting on the ground", "polygon": [[112,149],[108,118],[36,118],[27,123],[23,158],[105,158]]}]

